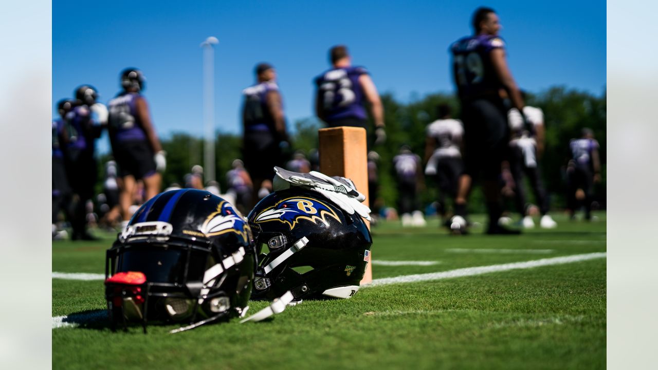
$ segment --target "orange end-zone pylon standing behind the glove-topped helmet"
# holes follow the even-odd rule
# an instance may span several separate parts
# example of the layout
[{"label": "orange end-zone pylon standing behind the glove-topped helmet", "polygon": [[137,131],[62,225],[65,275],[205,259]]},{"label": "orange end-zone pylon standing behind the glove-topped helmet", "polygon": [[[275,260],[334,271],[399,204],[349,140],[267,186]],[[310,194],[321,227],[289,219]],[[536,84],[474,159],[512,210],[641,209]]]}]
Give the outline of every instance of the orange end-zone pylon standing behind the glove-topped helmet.
[{"label": "orange end-zone pylon standing behind the glove-topped helmet", "polygon": [[[368,204],[368,146],[361,127],[320,128],[320,172],[351,179]],[[368,228],[370,223],[364,220]],[[372,259],[368,261],[361,284],[372,281]]]}]

